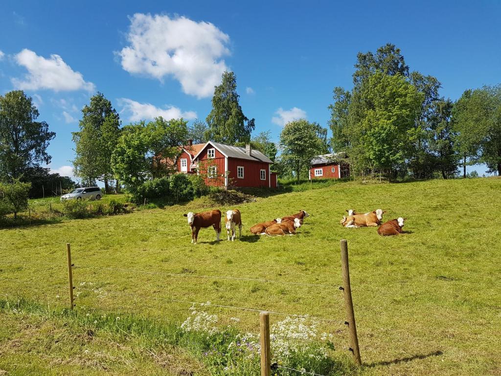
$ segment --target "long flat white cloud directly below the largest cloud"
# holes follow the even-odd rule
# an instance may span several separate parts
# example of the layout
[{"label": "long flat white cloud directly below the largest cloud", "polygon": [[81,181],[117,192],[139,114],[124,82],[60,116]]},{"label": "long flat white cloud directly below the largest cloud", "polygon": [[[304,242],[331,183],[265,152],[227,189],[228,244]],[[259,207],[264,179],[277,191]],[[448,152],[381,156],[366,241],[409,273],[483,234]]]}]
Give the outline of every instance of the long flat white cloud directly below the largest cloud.
[{"label": "long flat white cloud directly below the largest cloud", "polygon": [[118,105],[123,106],[122,111],[129,114],[130,121],[154,119],[161,116],[166,120],[184,118],[186,120],[196,119],[196,112],[181,111],[178,107],[165,105],[165,108],[156,107],[150,103],[139,103],[128,98],[119,98]]}]

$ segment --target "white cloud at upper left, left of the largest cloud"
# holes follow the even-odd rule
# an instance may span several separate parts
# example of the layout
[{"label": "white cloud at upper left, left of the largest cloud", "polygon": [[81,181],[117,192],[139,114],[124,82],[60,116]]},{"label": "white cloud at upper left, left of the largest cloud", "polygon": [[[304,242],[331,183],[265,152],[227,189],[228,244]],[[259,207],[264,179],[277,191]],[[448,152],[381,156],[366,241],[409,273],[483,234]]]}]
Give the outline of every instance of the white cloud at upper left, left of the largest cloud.
[{"label": "white cloud at upper left, left of the largest cloud", "polygon": [[82,74],[72,70],[59,55],[51,55],[46,59],[31,50],[24,49],[14,58],[19,65],[28,70],[28,74],[25,75],[24,79],[12,79],[12,83],[18,89],[95,90],[92,82],[84,81]]}]

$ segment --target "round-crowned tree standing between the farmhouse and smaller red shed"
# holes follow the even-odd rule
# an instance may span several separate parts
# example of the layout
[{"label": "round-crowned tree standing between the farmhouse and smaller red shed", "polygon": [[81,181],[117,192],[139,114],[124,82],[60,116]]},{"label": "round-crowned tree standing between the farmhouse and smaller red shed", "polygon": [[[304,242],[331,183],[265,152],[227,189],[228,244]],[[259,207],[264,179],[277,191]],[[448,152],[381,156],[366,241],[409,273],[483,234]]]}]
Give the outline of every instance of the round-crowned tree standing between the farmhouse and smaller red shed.
[{"label": "round-crowned tree standing between the farmhouse and smaller red shed", "polygon": [[319,129],[321,127],[317,123],[299,119],[287,123],[280,134],[282,162],[294,170],[298,182],[301,173],[310,167],[313,157],[320,154],[325,146],[323,132],[319,134]]}]

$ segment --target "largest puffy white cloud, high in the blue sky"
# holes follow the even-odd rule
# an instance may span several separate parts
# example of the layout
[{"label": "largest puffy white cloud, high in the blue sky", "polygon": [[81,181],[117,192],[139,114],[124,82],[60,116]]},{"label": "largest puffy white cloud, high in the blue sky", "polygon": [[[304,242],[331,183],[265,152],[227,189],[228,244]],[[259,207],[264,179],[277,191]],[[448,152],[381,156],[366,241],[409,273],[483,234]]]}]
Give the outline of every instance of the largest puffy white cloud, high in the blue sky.
[{"label": "largest puffy white cloud, high in the blue sky", "polygon": [[186,94],[208,97],[227,70],[222,57],[229,55],[229,36],[213,24],[185,17],[135,14],[127,40],[118,52],[122,68],[160,81],[172,76]]}]

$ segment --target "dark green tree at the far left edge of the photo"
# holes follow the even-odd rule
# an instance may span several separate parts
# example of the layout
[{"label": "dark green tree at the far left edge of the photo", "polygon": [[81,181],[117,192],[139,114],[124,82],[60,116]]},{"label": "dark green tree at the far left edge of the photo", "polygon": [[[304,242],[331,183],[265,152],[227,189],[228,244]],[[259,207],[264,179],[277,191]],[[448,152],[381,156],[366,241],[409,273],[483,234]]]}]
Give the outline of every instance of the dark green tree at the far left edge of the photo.
[{"label": "dark green tree at the far left edge of the photo", "polygon": [[26,176],[30,168],[50,163],[49,142],[56,133],[49,131],[39,117],[31,97],[21,90],[0,95],[0,180]]}]

